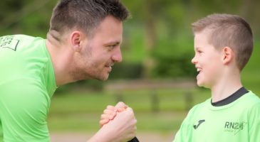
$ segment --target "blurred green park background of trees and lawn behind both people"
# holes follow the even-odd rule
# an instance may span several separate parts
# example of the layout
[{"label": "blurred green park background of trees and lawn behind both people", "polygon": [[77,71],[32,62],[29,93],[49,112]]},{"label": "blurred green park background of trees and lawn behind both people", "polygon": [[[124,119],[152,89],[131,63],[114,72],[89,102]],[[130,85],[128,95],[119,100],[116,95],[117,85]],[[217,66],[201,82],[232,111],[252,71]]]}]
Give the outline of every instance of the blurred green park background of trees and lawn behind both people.
[{"label": "blurred green park background of trees and lawn behind both people", "polygon": [[[27,34],[46,37],[56,0],[3,0],[0,3],[0,35]],[[132,13],[124,23],[123,62],[113,67],[110,80],[88,80],[60,87],[53,97],[48,118],[51,131],[96,131],[99,115],[108,104],[123,100],[138,119],[138,131],[177,131],[187,114],[186,89],[105,89],[113,81],[193,80],[192,22],[211,13],[242,16],[254,31],[254,52],[242,72],[244,86],[260,94],[260,1],[257,0],[123,0]],[[152,92],[159,111],[152,111]],[[209,90],[194,87],[192,104],[210,97]],[[116,94],[120,94],[118,99]]]}]

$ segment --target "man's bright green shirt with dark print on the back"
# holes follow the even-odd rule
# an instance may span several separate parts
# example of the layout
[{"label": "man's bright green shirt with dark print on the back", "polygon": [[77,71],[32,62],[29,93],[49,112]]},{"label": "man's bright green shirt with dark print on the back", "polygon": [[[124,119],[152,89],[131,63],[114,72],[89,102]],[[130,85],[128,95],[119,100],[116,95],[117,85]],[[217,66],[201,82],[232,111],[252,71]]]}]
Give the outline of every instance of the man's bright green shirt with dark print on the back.
[{"label": "man's bright green shirt with dark print on the back", "polygon": [[50,141],[46,118],[55,90],[43,38],[0,37],[0,141]]}]

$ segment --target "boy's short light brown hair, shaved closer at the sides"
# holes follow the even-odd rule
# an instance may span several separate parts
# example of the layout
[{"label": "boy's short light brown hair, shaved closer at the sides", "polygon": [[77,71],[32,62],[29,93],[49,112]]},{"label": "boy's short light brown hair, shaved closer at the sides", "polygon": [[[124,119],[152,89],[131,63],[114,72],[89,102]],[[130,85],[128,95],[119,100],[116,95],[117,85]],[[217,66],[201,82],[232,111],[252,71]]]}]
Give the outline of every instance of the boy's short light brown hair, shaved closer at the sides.
[{"label": "boy's short light brown hair, shaved closer at the sides", "polygon": [[192,23],[193,33],[208,29],[209,44],[217,50],[228,46],[235,53],[236,65],[242,70],[253,50],[253,33],[243,18],[230,14],[212,14]]}]

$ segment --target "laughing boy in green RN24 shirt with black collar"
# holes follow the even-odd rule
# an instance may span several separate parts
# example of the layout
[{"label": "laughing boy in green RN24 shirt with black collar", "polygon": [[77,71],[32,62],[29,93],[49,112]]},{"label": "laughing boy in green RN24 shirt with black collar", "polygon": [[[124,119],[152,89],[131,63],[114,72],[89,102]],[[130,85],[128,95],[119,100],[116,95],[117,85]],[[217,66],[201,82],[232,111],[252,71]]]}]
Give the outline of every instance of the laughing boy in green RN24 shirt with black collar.
[{"label": "laughing boy in green RN24 shirt with black collar", "polygon": [[189,111],[174,141],[260,141],[260,99],[240,80],[253,50],[249,24],[212,14],[192,29],[197,84],[211,89],[212,98]]}]

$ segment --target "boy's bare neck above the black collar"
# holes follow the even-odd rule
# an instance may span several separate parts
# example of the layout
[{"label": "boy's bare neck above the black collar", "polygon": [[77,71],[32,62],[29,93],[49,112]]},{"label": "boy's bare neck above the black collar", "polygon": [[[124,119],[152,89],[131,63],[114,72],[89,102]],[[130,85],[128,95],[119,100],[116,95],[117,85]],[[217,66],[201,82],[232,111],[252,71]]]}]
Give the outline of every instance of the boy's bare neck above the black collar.
[{"label": "boy's bare neck above the black collar", "polygon": [[212,102],[219,102],[220,100],[229,97],[241,87],[243,87],[243,85],[241,84],[239,75],[231,75],[222,78],[222,80],[219,80],[217,84],[211,87]]}]

